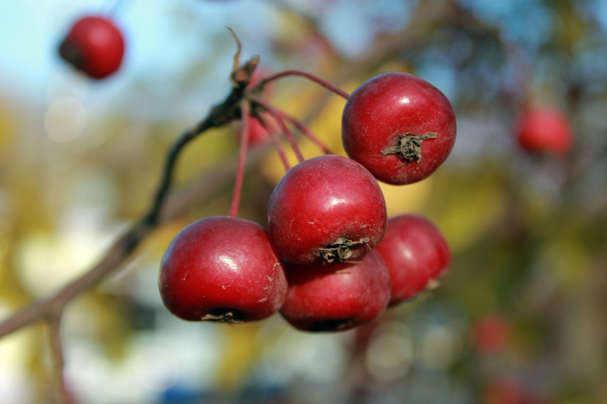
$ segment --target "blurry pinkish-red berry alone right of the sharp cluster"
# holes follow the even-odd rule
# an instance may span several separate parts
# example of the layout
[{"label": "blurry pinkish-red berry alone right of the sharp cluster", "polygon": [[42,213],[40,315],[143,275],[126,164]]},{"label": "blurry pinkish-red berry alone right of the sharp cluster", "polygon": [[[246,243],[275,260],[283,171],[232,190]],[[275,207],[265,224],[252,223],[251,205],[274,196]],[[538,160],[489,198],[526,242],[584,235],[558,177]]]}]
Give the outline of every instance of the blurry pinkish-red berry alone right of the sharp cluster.
[{"label": "blurry pinkish-red berry alone right of the sharp cluster", "polygon": [[515,128],[518,144],[527,151],[564,154],[571,149],[572,132],[568,119],[558,110],[527,110]]}]

